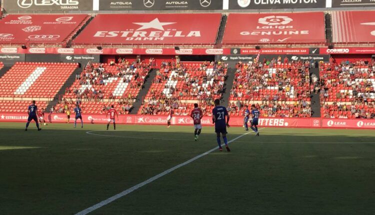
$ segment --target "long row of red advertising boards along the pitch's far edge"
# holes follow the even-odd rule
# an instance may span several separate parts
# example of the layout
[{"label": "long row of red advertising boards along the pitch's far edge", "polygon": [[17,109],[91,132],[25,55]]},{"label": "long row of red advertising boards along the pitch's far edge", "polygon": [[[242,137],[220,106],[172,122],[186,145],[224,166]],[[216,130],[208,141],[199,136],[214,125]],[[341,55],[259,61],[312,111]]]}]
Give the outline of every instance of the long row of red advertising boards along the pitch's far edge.
[{"label": "long row of red advertising boards along the pitch's far edge", "polygon": [[[107,123],[106,115],[83,114],[85,123]],[[116,123],[119,124],[166,124],[166,115],[119,115]],[[44,119],[49,123],[65,122],[66,114],[45,113]],[[117,118],[116,118],[117,119]],[[0,121],[25,122],[27,113],[0,113]],[[74,120],[71,115],[70,122]],[[189,116],[173,116],[171,120],[173,125],[192,125],[193,121]],[[230,117],[231,126],[242,126],[243,117]],[[202,125],[212,125],[212,119],[209,116],[202,118]],[[375,128],[375,119],[341,119],[341,118],[259,118],[260,127],[323,127],[323,128]]]}]

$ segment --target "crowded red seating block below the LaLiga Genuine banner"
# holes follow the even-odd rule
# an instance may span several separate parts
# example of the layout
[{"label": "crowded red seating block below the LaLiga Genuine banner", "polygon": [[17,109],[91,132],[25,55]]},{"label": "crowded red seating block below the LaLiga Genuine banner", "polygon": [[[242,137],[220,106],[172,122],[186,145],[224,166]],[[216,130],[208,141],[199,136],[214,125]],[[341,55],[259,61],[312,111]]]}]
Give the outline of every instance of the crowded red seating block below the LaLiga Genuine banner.
[{"label": "crowded red seating block below the LaLiga Genuine banner", "polygon": [[310,117],[310,76],[308,61],[257,63],[238,62],[230,90],[228,109],[241,115],[244,105],[256,104],[263,117]]}]

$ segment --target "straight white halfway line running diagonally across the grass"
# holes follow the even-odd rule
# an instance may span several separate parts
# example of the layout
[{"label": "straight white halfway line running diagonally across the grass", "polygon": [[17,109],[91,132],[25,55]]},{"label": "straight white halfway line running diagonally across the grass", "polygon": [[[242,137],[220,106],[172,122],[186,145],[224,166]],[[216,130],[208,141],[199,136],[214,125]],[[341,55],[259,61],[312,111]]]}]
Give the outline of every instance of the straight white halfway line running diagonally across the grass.
[{"label": "straight white halfway line running diagonally across the grass", "polygon": [[[262,129],[262,128],[260,128],[260,129]],[[93,134],[93,133],[89,133],[89,132],[90,131],[87,131],[88,134]],[[249,131],[247,133],[241,134],[241,135],[235,137],[234,139],[229,140],[228,143],[233,142],[233,141],[235,141],[235,140],[241,138],[242,136],[244,136],[244,135],[246,135],[248,133],[251,133],[251,132],[253,132],[253,131]],[[93,135],[95,135],[95,134],[93,134]],[[109,135],[107,135],[107,136],[109,136]],[[119,137],[121,137],[121,136],[119,136]],[[223,145],[223,144],[221,144],[221,145]],[[143,181],[141,183],[138,183],[138,184],[136,184],[136,185],[134,185],[134,186],[132,186],[132,187],[130,187],[128,189],[125,189],[122,192],[117,193],[117,194],[115,194],[115,195],[113,195],[113,196],[111,196],[111,197],[109,197],[109,198],[107,198],[105,200],[102,200],[102,201],[100,201],[99,203],[97,203],[95,205],[92,205],[92,206],[90,206],[90,207],[88,207],[88,208],[86,208],[86,209],[84,209],[84,210],[82,210],[80,212],[77,212],[77,213],[75,213],[75,215],[85,215],[85,214],[87,214],[89,212],[92,212],[93,210],[96,210],[97,208],[100,208],[100,207],[102,207],[102,206],[104,206],[104,205],[106,205],[106,204],[108,204],[108,203],[110,203],[110,202],[112,202],[112,201],[114,201],[114,200],[116,200],[118,198],[121,198],[121,197],[129,194],[130,192],[132,192],[132,191],[134,191],[134,190],[136,190],[136,189],[138,189],[138,188],[140,188],[140,187],[142,187],[142,186],[144,186],[144,185],[146,185],[146,184],[148,184],[148,183],[150,183],[150,182],[152,182],[152,181],[154,181],[154,180],[156,180],[156,179],[158,179],[158,178],[160,178],[160,177],[162,177],[162,176],[164,176],[164,175],[166,175],[166,174],[168,174],[168,173],[170,173],[170,172],[172,172],[174,170],[176,170],[177,168],[182,167],[184,165],[187,165],[190,162],[192,162],[192,161],[194,161],[196,159],[199,159],[200,157],[202,157],[204,155],[207,155],[207,154],[209,154],[212,151],[217,150],[217,149],[218,149],[218,146],[216,146],[216,147],[214,147],[214,148],[212,148],[212,149],[210,149],[210,150],[208,150],[208,151],[206,151],[204,153],[201,153],[201,154],[199,154],[199,155],[197,155],[197,156],[195,156],[195,157],[193,157],[193,158],[191,158],[189,160],[186,160],[183,163],[180,163],[180,164],[178,164],[178,165],[176,165],[174,167],[171,167],[171,168],[169,168],[169,169],[167,169],[167,170],[165,170],[165,171],[163,171],[163,172],[161,172],[161,173],[159,173],[159,174],[157,174],[157,175],[155,175],[153,177],[150,177],[147,180],[145,180],[145,181]]]}]

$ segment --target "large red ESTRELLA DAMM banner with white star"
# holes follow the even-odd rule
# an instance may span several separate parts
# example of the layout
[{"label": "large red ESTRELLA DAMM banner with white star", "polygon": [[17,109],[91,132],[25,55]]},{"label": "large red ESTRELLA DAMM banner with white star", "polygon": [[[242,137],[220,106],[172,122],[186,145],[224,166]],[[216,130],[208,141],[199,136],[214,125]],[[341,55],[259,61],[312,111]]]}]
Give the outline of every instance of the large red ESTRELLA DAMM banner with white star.
[{"label": "large red ESTRELLA DAMM banner with white star", "polygon": [[220,13],[98,14],[74,44],[214,44]]}]

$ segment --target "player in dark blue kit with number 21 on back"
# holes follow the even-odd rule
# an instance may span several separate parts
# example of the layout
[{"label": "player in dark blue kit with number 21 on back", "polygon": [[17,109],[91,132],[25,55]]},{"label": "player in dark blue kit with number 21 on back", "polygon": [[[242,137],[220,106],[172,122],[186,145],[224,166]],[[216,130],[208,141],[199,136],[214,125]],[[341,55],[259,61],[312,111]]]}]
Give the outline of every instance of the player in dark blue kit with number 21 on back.
[{"label": "player in dark blue kit with number 21 on back", "polygon": [[[228,140],[226,139],[226,127],[229,126],[229,114],[225,107],[220,106],[220,100],[215,99],[215,107],[212,109],[212,123],[215,124],[216,140],[219,146],[219,150],[222,151],[220,142],[220,133],[222,134],[222,139],[225,143],[225,148],[230,151],[228,146]],[[226,120],[225,120],[226,118]]]}]

